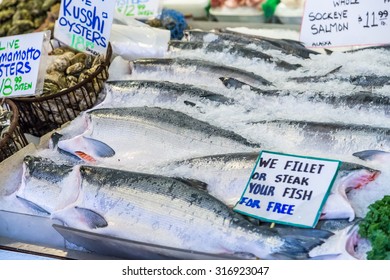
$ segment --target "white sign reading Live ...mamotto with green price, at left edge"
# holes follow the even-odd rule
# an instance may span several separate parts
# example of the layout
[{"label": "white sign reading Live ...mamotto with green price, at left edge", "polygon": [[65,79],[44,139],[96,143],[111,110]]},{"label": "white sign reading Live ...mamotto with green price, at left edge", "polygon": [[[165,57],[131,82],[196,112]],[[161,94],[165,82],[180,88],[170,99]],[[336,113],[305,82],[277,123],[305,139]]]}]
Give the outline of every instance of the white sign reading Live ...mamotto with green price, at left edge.
[{"label": "white sign reading Live ...mamotto with green price, at left edge", "polygon": [[0,38],[0,97],[35,94],[45,36],[39,32]]}]

